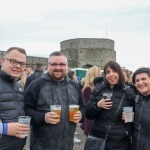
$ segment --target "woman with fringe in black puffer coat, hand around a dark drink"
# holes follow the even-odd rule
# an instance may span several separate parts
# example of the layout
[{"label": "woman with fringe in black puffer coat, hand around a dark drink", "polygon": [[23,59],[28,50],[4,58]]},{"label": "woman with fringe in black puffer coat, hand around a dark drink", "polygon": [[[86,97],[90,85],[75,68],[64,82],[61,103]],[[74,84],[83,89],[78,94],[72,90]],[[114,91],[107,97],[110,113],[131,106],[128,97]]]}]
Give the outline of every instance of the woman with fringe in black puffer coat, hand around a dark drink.
[{"label": "woman with fringe in black puffer coat, hand around a dark drink", "polygon": [[[134,105],[134,91],[125,86],[122,69],[115,61],[109,61],[105,65],[104,76],[94,81],[95,87],[87,104],[86,117],[95,120],[91,134],[104,138],[111,125],[106,150],[131,150],[132,123],[124,123],[122,111],[124,106]],[[103,98],[103,93],[106,92],[112,93],[111,100]],[[115,115],[124,94],[123,102]]]}]

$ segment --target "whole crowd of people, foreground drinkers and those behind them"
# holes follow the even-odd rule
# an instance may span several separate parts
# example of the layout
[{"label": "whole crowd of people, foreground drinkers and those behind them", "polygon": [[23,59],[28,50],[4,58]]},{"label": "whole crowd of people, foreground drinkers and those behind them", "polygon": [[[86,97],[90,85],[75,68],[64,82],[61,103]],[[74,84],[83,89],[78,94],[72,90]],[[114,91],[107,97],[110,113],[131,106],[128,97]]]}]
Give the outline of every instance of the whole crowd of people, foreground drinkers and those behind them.
[{"label": "whole crowd of people, foreground drinkers and those behind them", "polygon": [[[150,68],[132,72],[116,61],[88,69],[80,79],[69,69],[61,51],[43,64],[26,65],[26,51],[10,47],[0,69],[0,149],[23,150],[30,133],[30,150],[72,150],[76,126],[84,134],[105,138],[105,150],[150,149]],[[104,97],[111,93],[111,98]],[[69,118],[69,105],[79,110]],[[61,105],[60,116],[50,109]],[[133,121],[125,121],[123,108],[133,108]],[[30,116],[31,126],[18,122]],[[109,130],[108,130],[109,128]]]}]

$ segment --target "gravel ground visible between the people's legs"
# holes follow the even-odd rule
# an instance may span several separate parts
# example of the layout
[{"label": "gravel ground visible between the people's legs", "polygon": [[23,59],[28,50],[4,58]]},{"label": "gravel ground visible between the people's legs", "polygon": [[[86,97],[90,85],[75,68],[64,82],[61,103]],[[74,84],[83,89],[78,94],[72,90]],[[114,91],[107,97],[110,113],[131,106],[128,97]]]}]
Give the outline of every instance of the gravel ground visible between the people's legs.
[{"label": "gravel ground visible between the people's legs", "polygon": [[[73,150],[83,150],[84,149],[84,143],[85,143],[85,140],[86,140],[86,136],[84,135],[83,131],[80,129],[80,124],[77,125],[77,128],[76,128],[76,133],[75,136],[81,140],[81,142],[79,143],[75,143],[74,144],[74,148]],[[29,149],[29,138],[27,138],[27,143],[24,147],[24,150],[30,150]]]}]

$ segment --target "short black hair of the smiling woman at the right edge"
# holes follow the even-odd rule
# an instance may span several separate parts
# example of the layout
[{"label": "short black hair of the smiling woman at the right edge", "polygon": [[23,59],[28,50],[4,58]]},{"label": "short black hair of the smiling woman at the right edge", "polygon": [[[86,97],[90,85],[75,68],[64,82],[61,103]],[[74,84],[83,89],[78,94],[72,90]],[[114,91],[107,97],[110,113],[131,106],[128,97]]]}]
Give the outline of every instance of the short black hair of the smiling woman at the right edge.
[{"label": "short black hair of the smiling woman at the right edge", "polygon": [[132,82],[133,82],[133,84],[135,84],[135,77],[136,77],[136,75],[141,74],[141,73],[146,73],[150,77],[150,68],[148,68],[148,67],[142,67],[142,68],[137,69],[133,73],[133,76],[132,76]]}]

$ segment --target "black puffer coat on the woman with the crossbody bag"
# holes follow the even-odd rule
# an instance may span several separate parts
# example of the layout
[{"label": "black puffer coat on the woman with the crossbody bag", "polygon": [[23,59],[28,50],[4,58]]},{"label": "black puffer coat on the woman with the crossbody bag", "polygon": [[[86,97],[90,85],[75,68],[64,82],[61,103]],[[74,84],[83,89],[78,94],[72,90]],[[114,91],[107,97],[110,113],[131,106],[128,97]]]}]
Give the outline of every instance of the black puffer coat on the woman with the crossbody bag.
[{"label": "black puffer coat on the woman with the crossbody bag", "polygon": [[[113,93],[111,98],[113,101],[113,106],[109,110],[98,108],[96,105],[96,103],[103,98],[104,92]],[[114,114],[124,93],[125,98],[123,103],[116,117],[114,118]],[[125,124],[122,121],[122,111],[124,106],[134,105],[134,96],[134,91],[130,87],[122,87],[121,85],[117,84],[113,89],[111,89],[109,84],[103,78],[100,77],[96,79],[95,87],[90,97],[90,102],[87,105],[86,117],[89,119],[95,119],[92,127],[92,134],[97,137],[104,138],[108,125],[112,125],[107,139],[107,150],[131,149],[131,142],[129,137],[132,134],[132,123]]]}]

